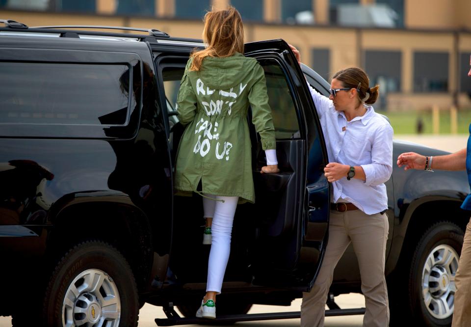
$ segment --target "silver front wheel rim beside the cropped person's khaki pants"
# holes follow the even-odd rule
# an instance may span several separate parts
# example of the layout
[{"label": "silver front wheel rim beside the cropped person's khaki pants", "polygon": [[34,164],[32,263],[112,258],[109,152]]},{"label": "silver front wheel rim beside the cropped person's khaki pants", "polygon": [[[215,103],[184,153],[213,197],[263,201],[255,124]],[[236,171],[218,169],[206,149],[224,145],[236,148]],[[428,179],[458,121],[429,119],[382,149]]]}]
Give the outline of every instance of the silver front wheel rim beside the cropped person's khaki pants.
[{"label": "silver front wheel rim beside the cropped person's khaki pants", "polygon": [[453,314],[455,275],[460,257],[450,245],[438,245],[427,256],[422,271],[422,299],[428,312],[437,319]]}]

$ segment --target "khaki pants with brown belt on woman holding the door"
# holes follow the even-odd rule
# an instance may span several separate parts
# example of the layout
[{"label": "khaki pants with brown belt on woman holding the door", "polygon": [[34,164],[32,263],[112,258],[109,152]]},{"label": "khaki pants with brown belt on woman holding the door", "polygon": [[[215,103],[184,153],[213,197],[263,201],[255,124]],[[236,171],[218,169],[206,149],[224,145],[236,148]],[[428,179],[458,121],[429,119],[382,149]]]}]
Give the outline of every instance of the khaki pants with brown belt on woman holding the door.
[{"label": "khaki pants with brown belt on woman holding the door", "polygon": [[365,295],[365,327],[389,325],[388,290],[384,277],[388,216],[366,215],[361,210],[330,212],[329,242],[321,269],[309,293],[303,293],[301,326],[324,326],[325,303],[332,284],[334,268],[352,242],[362,276]]}]

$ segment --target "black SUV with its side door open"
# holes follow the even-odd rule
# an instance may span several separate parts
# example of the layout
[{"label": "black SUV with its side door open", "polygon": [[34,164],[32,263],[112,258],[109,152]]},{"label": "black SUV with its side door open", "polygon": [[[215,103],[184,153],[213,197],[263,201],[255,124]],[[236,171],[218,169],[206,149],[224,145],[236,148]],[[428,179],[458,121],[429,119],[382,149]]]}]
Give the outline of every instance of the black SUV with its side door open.
[{"label": "black SUV with its side door open", "polygon": [[[173,193],[183,132],[173,104],[201,40],[0,22],[0,315],[14,326],[136,326],[149,302],[169,317],[158,325],[201,322],[202,201]],[[264,152],[248,117],[257,201],[237,207],[219,322],[298,317],[246,313],[309,290],[328,238],[327,152],[305,79],[324,95],[329,84],[283,40],[248,43],[245,54],[265,71],[281,172],[258,173]],[[404,151],[444,154],[395,141],[394,157]],[[386,184],[392,325],[448,326],[466,175],[394,165]],[[349,292],[361,292],[351,248],[327,315],[364,312],[336,308],[333,297]]]}]

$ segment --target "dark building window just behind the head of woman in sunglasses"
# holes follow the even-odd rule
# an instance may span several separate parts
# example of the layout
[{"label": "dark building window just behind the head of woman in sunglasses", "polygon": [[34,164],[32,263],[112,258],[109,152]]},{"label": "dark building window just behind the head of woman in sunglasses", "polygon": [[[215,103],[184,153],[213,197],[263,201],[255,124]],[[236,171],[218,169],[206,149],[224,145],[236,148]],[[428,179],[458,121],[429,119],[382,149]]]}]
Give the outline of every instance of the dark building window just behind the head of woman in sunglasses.
[{"label": "dark building window just behind the head of woman in sunglasses", "polygon": [[379,99],[375,107],[384,109],[386,97],[390,92],[401,90],[400,51],[365,51],[365,70],[369,77],[369,86],[379,85]]}]

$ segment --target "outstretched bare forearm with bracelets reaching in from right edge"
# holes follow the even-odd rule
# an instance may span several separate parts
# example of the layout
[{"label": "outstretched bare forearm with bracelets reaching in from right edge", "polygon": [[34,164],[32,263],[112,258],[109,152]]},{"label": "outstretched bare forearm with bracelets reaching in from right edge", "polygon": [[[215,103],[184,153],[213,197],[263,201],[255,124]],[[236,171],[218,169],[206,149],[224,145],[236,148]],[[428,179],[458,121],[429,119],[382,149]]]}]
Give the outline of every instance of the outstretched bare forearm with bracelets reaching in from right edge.
[{"label": "outstretched bare forearm with bracelets reaching in from right edge", "polygon": [[[415,152],[401,153],[397,157],[397,165],[407,169],[425,169],[426,156]],[[429,157],[430,163],[430,157]],[[466,170],[466,148],[445,156],[433,156],[430,169]]]}]

